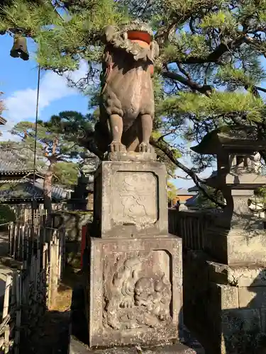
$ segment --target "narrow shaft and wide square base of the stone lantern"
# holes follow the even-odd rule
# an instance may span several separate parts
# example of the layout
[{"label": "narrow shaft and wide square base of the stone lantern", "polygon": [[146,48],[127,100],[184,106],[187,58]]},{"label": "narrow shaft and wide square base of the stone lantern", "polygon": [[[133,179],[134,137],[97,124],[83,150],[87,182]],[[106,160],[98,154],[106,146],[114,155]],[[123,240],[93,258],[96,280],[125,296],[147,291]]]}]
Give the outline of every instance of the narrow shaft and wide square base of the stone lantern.
[{"label": "narrow shaft and wide square base of the stone lantern", "polygon": [[233,216],[213,216],[206,232],[206,248],[218,262],[227,265],[266,264],[266,232],[263,219],[249,208],[253,190],[232,190]]}]

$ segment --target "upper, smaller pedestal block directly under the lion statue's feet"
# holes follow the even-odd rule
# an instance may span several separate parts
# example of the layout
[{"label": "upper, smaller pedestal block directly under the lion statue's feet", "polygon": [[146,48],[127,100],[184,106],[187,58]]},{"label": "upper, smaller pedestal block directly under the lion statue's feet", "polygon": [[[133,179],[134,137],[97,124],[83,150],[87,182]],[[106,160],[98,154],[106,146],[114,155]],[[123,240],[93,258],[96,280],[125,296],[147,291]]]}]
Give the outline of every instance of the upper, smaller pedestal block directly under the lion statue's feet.
[{"label": "upper, smaller pedestal block directly under the lion statue's feet", "polygon": [[103,161],[94,174],[95,237],[165,236],[167,171],[160,162]]}]

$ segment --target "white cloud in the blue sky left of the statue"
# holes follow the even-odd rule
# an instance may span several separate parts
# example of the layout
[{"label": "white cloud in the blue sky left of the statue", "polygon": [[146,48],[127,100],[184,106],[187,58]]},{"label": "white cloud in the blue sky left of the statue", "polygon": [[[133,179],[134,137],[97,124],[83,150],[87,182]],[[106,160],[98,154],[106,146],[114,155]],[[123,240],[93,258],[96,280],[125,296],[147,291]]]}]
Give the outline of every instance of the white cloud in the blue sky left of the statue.
[{"label": "white cloud in the blue sky left of the statue", "polygon": [[[78,81],[86,76],[87,70],[87,62],[82,61],[80,62],[79,69],[75,72],[67,72],[63,76],[59,76],[54,72],[45,72],[43,76],[41,75],[39,113],[43,108],[48,107],[52,101],[77,94],[76,89],[67,86],[67,76],[70,76],[74,81]],[[36,98],[37,87],[36,89],[15,91],[11,96],[7,97],[4,100],[6,111],[3,116],[8,120],[8,123],[1,131],[4,132],[4,130],[10,129],[16,122],[21,120],[32,120],[35,118]]]}]

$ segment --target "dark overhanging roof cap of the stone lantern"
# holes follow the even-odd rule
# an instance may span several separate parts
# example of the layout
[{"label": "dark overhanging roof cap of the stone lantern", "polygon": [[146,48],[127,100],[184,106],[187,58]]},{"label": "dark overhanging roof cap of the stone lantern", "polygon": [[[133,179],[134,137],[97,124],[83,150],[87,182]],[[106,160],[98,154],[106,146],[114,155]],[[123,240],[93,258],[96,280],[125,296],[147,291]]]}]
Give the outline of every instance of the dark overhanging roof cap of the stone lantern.
[{"label": "dark overhanging roof cap of the stone lantern", "polygon": [[254,126],[223,126],[207,133],[201,142],[192,147],[199,154],[220,154],[223,150],[231,152],[257,152],[265,149],[265,141],[257,138]]}]

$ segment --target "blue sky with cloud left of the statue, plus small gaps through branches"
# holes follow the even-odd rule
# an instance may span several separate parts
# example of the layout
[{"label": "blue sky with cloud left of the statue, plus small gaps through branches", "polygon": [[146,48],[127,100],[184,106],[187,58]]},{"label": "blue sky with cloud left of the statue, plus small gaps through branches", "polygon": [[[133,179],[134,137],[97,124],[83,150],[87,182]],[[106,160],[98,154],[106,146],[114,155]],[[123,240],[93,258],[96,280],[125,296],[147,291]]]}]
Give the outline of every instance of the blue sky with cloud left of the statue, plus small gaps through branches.
[{"label": "blue sky with cloud left of the statue, plus small gaps through branches", "polygon": [[[3,133],[1,140],[12,138],[8,130],[21,120],[35,120],[35,107],[37,96],[38,68],[34,56],[34,42],[28,40],[30,59],[24,62],[22,59],[10,57],[9,52],[13,46],[13,38],[9,35],[1,35],[1,56],[0,56],[0,91],[4,92],[6,111],[3,117],[8,120],[6,126],[1,126]],[[86,75],[87,63],[82,62],[79,70],[70,74],[72,79],[78,80]],[[87,113],[88,98],[82,96],[75,89],[67,86],[65,77],[58,76],[54,72],[41,72],[40,75],[40,109],[39,118],[47,120],[51,115],[62,110],[77,110]],[[183,159],[189,164],[189,159]],[[211,171],[206,171],[208,176]],[[178,176],[184,173],[177,171]],[[173,181],[179,188],[188,188],[194,185],[191,180],[177,178]]]}]

